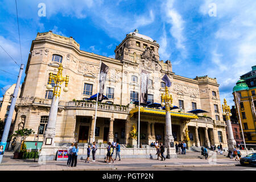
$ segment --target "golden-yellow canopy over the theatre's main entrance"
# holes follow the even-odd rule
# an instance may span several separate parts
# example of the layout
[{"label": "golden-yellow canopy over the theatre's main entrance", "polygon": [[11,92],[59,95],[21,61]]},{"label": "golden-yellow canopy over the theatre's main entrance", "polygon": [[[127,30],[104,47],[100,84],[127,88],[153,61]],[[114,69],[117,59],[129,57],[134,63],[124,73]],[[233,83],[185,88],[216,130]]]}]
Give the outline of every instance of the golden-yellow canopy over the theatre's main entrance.
[{"label": "golden-yellow canopy over the theatre's main entrance", "polygon": [[[162,109],[152,109],[152,108],[146,108],[146,107],[141,107],[140,109],[141,114],[146,114],[146,115],[155,115],[155,116],[162,116],[165,117],[166,115],[166,110]],[[133,117],[135,113],[139,112],[139,108],[132,109],[130,111],[130,117]],[[197,115],[191,114],[191,113],[179,113],[179,112],[174,112],[170,111],[171,117],[175,118],[183,118],[183,119],[197,119]]]}]

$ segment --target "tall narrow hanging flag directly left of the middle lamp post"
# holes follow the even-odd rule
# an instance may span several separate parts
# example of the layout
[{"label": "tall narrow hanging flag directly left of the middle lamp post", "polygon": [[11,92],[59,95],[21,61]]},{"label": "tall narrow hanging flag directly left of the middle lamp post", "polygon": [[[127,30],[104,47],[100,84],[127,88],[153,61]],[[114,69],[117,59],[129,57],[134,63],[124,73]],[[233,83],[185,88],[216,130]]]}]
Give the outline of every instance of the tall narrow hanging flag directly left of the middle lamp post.
[{"label": "tall narrow hanging flag directly left of the middle lamp post", "polygon": [[148,72],[141,71],[141,103],[147,103],[147,91],[148,91]]}]

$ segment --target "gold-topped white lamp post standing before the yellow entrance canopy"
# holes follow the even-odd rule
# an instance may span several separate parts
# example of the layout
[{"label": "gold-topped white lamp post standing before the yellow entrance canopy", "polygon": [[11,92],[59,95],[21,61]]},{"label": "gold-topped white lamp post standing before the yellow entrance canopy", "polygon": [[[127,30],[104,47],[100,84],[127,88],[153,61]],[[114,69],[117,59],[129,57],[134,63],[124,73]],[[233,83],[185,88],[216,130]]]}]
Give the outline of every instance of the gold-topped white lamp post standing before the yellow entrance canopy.
[{"label": "gold-topped white lamp post standing before the yellow entrance canopy", "polygon": [[170,107],[173,107],[172,96],[171,94],[169,95],[167,86],[165,89],[165,94],[162,93],[161,100],[162,100],[161,105],[166,106],[166,135],[164,137],[165,145],[167,148],[166,158],[170,159],[171,155],[175,156],[176,158],[177,155],[174,148],[174,137],[172,136],[172,123],[171,123],[171,113],[170,113],[171,111]]}]

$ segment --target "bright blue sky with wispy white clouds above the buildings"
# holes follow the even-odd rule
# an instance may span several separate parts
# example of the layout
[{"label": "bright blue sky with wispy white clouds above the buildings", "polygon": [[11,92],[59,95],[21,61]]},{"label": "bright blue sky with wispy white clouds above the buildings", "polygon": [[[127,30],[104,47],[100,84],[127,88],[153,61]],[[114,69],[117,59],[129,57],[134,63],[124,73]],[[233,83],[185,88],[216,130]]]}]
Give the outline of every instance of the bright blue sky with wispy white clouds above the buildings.
[{"label": "bright blue sky with wispy white clouds above the buildings", "polygon": [[[39,3],[46,5],[45,17],[38,16]],[[212,3],[216,16],[209,15]],[[38,32],[72,36],[83,51],[113,57],[115,46],[137,28],[159,43],[160,60],[171,60],[176,75],[216,77],[221,102],[225,97],[229,105],[236,81],[256,65],[254,0],[17,0],[17,4],[25,65]],[[0,17],[0,45],[21,63],[14,0],[0,2]],[[0,64],[18,75],[19,68],[2,49]],[[15,83],[14,75],[0,71],[0,87]]]}]

